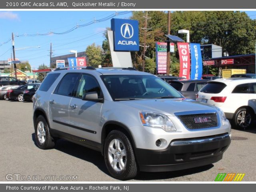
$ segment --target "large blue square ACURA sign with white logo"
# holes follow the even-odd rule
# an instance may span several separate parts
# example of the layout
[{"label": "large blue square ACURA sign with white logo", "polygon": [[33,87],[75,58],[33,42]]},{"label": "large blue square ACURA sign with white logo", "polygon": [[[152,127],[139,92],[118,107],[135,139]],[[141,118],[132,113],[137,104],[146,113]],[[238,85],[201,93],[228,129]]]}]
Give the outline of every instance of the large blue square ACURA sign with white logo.
[{"label": "large blue square ACURA sign with white logo", "polygon": [[137,20],[111,19],[115,51],[139,50],[139,24]]}]

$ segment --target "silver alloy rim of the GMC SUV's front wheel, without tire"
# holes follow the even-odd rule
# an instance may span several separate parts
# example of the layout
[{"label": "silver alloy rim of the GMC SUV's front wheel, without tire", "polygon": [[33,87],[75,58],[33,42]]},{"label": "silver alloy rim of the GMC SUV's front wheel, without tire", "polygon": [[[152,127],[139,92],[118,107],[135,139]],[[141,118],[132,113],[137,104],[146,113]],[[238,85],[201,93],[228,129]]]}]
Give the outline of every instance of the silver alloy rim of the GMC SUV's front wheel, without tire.
[{"label": "silver alloy rim of the GMC SUV's front wheel, without tire", "polygon": [[113,139],[108,146],[108,160],[112,168],[119,172],[126,166],[126,150],[119,139]]}]

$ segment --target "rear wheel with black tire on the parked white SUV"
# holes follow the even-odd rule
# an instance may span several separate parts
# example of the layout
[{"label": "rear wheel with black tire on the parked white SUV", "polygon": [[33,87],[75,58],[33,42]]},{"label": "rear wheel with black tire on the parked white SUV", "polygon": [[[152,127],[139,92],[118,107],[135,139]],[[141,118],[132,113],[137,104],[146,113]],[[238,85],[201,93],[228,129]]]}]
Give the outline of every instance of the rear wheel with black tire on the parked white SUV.
[{"label": "rear wheel with black tire on the parked white SUV", "polygon": [[252,124],[252,112],[248,108],[239,108],[233,117],[233,124],[236,128],[246,129]]}]

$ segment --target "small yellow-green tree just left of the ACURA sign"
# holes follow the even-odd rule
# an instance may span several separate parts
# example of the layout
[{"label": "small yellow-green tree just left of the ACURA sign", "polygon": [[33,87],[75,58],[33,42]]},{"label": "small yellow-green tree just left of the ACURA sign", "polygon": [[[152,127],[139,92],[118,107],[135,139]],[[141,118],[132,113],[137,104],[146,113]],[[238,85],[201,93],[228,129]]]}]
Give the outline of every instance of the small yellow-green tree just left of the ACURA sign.
[{"label": "small yellow-green tree just left of the ACURA sign", "polygon": [[93,43],[87,46],[85,52],[90,66],[98,67],[102,64],[102,48],[100,46]]}]

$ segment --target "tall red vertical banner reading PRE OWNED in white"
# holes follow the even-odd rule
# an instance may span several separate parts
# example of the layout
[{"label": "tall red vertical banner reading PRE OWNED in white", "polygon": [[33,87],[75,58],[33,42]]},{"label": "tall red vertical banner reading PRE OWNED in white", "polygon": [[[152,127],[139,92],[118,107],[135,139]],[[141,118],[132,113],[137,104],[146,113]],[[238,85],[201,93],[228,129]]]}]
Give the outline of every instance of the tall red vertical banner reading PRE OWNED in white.
[{"label": "tall red vertical banner reading PRE OWNED in white", "polygon": [[190,55],[189,55],[189,45],[188,43],[177,43],[179,55],[180,55],[180,75],[179,77],[184,77],[189,79],[190,74]]}]

